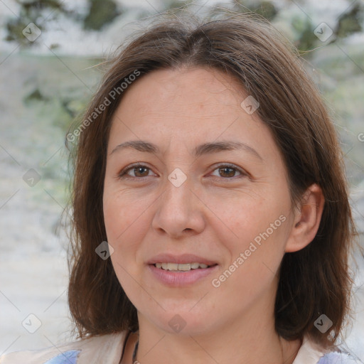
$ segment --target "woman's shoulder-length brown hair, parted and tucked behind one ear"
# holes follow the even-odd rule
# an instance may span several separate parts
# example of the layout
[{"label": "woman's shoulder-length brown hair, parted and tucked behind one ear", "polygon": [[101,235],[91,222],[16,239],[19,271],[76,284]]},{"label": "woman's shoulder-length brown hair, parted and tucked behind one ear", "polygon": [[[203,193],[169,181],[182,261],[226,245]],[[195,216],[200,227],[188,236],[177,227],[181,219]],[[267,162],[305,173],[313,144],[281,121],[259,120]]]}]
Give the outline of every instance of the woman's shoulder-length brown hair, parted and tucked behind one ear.
[{"label": "woman's shoulder-length brown hair, parted and tucked behind one ear", "polygon": [[[95,254],[107,240],[102,210],[107,141],[125,92],[93,119],[90,116],[136,70],[138,80],[154,70],[185,65],[232,75],[260,103],[257,114],[271,129],[287,167],[292,204],[299,203],[312,183],[321,186],[325,205],[319,231],[304,249],[284,255],[274,314],[277,333],[286,340],[307,334],[321,346],[333,347],[350,312],[353,281],[348,257],[356,233],[338,136],[319,90],[293,45],[263,18],[228,14],[205,23],[191,16],[158,20],[111,60],[84,115],[89,122],[78,133],[72,156],[68,302],[78,336],[138,329],[137,310],[120,286],[111,260]],[[333,322],[326,333],[314,326],[321,314]]]}]

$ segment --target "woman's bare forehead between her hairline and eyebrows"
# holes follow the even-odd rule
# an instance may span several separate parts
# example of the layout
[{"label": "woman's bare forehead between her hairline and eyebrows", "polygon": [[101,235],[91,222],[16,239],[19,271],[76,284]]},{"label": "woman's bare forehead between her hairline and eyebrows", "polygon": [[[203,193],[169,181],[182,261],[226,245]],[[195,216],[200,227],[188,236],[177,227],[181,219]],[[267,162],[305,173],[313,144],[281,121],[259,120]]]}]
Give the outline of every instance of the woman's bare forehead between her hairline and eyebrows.
[{"label": "woman's bare forehead between her hairline and eyebrows", "polygon": [[[131,139],[149,139],[161,149],[201,141],[235,139],[262,144],[272,153],[274,141],[257,113],[240,106],[247,93],[232,76],[219,70],[157,70],[128,87],[112,120],[109,152]],[[277,148],[276,148],[277,149]],[[275,151],[277,152],[277,150]]]}]

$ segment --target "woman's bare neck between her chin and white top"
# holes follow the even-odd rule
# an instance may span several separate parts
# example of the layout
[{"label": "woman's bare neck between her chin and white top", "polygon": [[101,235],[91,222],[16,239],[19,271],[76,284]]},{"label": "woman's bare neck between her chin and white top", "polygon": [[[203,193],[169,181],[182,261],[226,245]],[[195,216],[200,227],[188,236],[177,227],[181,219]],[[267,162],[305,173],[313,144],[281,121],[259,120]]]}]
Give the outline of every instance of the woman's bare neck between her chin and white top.
[{"label": "woman's bare neck between her chin and white top", "polygon": [[285,341],[277,335],[273,325],[264,325],[262,321],[245,331],[235,323],[230,323],[225,330],[181,335],[160,331],[139,317],[137,360],[141,364],[167,364],[171,360],[176,364],[293,363],[301,346],[299,340]]}]

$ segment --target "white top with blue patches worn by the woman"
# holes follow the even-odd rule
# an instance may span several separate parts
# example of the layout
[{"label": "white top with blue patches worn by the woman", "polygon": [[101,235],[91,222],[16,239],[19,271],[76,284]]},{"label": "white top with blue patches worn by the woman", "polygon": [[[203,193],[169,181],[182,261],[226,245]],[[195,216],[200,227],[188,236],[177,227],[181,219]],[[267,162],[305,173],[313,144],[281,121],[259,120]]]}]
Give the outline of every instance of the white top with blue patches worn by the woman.
[{"label": "white top with blue patches worn by the woman", "polygon": [[[85,338],[57,347],[23,350],[1,355],[0,364],[119,364],[128,331]],[[341,360],[338,360],[338,359]],[[321,360],[320,360],[321,359]],[[346,353],[326,353],[304,338],[293,364],[361,363]]]}]

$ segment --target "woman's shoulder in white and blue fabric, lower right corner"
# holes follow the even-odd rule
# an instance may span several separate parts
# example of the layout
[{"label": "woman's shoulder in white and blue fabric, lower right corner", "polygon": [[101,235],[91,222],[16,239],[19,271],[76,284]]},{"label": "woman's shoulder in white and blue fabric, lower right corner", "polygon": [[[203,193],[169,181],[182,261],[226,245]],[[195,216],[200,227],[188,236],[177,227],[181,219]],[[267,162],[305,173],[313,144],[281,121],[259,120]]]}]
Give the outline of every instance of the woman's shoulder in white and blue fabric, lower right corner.
[{"label": "woman's shoulder in white and blue fabric, lower right corner", "polygon": [[350,353],[322,350],[314,341],[305,337],[293,364],[363,364],[363,362]]}]

